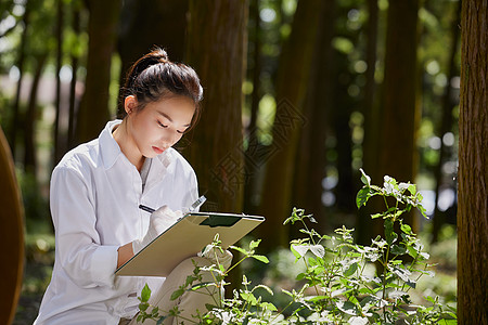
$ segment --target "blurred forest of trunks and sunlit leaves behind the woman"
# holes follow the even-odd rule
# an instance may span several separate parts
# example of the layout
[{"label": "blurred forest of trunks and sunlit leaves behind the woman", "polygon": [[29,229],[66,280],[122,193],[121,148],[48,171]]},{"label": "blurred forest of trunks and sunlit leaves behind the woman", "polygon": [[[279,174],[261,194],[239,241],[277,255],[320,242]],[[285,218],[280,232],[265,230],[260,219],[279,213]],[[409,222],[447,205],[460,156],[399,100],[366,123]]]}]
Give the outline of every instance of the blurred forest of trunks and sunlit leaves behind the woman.
[{"label": "blurred forest of trunks and sunlit leaves behind the woman", "polygon": [[[483,38],[486,0],[467,2],[481,13]],[[202,79],[202,119],[178,147],[208,198],[203,210],[267,218],[253,236],[264,238],[260,249],[274,257],[274,271],[255,271],[259,276],[273,273],[272,281],[285,285],[280,276],[291,268],[280,251],[299,234],[282,223],[293,207],[313,213],[324,233],[355,227],[359,243],[382,231],[368,217],[374,205],[356,209],[363,168],[373,183],[388,174],[418,184],[431,219],[412,213],[408,222],[439,263],[436,294],[455,302],[463,5],[0,2],[0,125],[25,211],[26,265],[14,324],[33,321],[50,278],[53,167],[115,117],[127,68],[154,46],[193,66]],[[484,64],[486,72],[486,57]],[[486,88],[478,91],[486,102]],[[486,126],[486,106],[479,117]],[[486,140],[481,148],[486,153]],[[480,213],[478,224],[486,226],[486,203]]]}]

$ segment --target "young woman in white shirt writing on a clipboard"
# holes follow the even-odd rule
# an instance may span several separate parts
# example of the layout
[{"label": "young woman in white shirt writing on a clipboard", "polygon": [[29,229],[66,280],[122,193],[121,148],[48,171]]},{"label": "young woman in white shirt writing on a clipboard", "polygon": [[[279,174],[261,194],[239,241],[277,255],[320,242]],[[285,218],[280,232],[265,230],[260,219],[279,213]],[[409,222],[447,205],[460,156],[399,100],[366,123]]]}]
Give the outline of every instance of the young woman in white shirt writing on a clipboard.
[{"label": "young woman in white shirt writing on a clipboard", "polygon": [[[146,283],[159,310],[177,304],[183,310],[180,322],[206,311],[208,296],[169,299],[192,273],[189,260],[166,281],[114,277],[198,196],[192,167],[172,145],[195,125],[202,96],[196,73],[156,49],[128,74],[123,119],[107,122],[98,139],[74,148],[55,167],[50,190],[55,262],[35,324],[134,324],[137,297]],[[149,213],[139,209],[141,204],[162,208]],[[226,259],[230,263],[231,257]]]}]

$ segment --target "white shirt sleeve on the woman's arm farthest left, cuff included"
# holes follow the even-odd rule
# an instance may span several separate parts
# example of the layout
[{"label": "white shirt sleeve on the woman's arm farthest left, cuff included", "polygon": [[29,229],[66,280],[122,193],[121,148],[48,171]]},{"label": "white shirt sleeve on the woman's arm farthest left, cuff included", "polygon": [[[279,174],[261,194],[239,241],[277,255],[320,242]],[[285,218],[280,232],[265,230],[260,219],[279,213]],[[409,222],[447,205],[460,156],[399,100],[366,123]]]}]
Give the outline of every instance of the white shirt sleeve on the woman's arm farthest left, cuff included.
[{"label": "white shirt sleeve on the woman's arm farthest left, cuff included", "polygon": [[56,168],[50,205],[56,262],[82,288],[114,285],[118,246],[104,246],[97,231],[93,191],[76,170]]}]

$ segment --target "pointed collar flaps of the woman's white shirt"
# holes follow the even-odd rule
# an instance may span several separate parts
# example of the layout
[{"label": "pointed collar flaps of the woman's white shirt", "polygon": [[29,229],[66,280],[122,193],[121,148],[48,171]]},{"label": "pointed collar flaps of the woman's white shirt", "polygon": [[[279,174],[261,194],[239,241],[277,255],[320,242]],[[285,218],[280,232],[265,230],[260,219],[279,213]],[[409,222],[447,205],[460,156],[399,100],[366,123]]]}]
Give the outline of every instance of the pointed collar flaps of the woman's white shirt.
[{"label": "pointed collar flaps of the woman's white shirt", "polygon": [[[120,119],[115,119],[105,125],[105,128],[99,135],[100,152],[102,153],[103,166],[105,169],[110,169],[114,166],[117,158],[123,155],[118,143],[115,141],[113,130],[116,126],[120,125]],[[167,168],[174,160],[174,148],[167,148],[163,154],[156,156],[162,167]],[[158,164],[158,165],[159,165]]]}]

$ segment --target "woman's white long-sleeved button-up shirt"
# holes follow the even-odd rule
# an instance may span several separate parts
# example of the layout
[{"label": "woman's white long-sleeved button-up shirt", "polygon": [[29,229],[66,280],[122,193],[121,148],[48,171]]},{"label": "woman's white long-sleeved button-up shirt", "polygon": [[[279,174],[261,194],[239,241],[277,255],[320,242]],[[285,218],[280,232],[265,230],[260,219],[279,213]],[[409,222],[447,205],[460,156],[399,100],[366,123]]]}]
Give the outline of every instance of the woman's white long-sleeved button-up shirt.
[{"label": "woman's white long-sleeved button-up shirt", "polygon": [[55,229],[51,283],[34,324],[118,324],[137,312],[142,287],[153,292],[163,277],[115,277],[117,249],[142,238],[150,213],[139,209],[189,207],[197,198],[196,176],[174,148],[151,159],[142,186],[137,168],[106,125],[100,136],[68,152],[51,178]]}]

